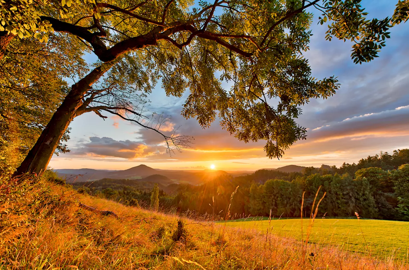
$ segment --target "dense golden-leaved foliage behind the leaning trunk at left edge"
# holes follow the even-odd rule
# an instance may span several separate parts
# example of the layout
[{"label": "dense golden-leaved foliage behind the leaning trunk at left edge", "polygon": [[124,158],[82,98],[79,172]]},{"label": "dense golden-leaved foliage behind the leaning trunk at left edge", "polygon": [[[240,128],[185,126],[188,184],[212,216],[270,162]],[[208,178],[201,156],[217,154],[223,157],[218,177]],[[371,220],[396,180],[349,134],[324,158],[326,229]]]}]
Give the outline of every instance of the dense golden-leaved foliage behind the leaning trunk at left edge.
[{"label": "dense golden-leaved foliage behind the leaning trunk at left edge", "polygon": [[[85,71],[79,41],[65,34],[47,43],[14,39],[0,61],[0,171],[16,168],[68,92],[65,77]],[[44,74],[47,74],[45,76]],[[68,130],[62,141],[69,139]],[[57,151],[66,152],[65,145]]]}]

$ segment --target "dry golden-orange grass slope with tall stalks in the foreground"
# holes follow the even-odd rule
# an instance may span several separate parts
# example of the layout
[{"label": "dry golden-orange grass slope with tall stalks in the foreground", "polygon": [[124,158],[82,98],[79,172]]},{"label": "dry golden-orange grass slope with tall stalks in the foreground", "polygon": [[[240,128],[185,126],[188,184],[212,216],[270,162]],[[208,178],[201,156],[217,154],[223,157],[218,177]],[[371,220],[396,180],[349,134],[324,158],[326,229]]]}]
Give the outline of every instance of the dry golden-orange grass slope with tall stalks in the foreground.
[{"label": "dry golden-orange grass slope with tall stalks in the foreground", "polygon": [[[89,212],[79,202],[120,218]],[[304,253],[296,240],[259,230],[190,219],[178,229],[177,216],[45,181],[11,190],[1,203],[0,269],[408,269],[336,248],[306,245]]]}]

